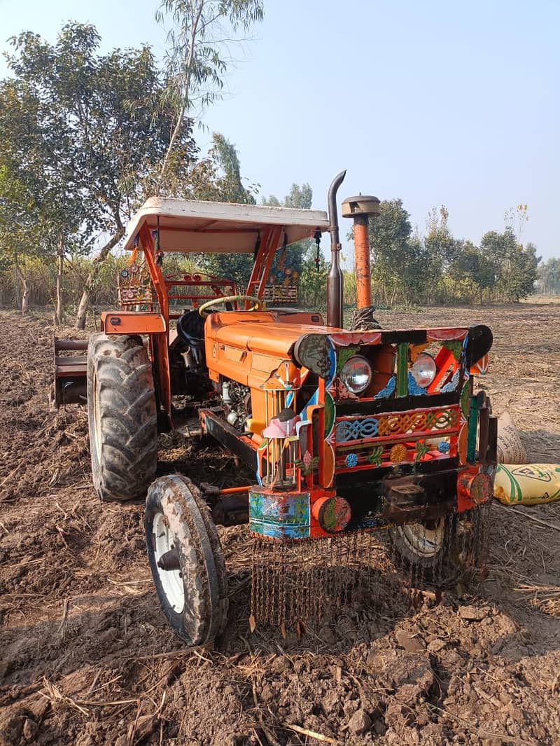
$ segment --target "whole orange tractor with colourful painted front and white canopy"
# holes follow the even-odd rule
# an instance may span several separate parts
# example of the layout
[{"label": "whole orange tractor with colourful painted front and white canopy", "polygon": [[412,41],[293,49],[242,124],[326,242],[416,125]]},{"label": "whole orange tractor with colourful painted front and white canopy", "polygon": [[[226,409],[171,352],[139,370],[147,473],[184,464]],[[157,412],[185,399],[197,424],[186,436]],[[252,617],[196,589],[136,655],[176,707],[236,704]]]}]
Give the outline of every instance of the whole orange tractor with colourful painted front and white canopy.
[{"label": "whole orange tractor with colourful painted front and white canopy", "polygon": [[[358,289],[353,325],[343,327],[336,192],[344,176],[330,186],[328,214],[148,200],[128,226],[120,310],[101,315],[86,360],[56,358],[57,404],[83,401],[86,391],[99,497],[146,499],[157,594],[191,645],[226,623],[215,524],[248,524],[268,547],[383,530],[404,565],[430,576],[491,499],[496,420],[473,386],[491,331],[380,328],[368,246],[379,200],[362,195],[342,203],[353,219]],[[277,252],[324,232],[326,323],[313,311],[265,307]],[[168,252],[252,254],[246,292],[220,278],[166,275]],[[230,489],[155,478],[162,430],[212,436],[254,477]]]}]

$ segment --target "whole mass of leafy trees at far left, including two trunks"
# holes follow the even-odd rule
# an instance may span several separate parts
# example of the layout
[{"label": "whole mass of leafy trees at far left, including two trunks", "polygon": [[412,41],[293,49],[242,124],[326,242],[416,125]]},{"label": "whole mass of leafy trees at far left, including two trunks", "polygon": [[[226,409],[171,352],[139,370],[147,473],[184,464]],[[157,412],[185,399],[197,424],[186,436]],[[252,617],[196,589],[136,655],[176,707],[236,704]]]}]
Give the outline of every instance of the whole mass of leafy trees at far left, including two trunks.
[{"label": "whole mass of leafy trees at far left, including two trunks", "polygon": [[[100,263],[119,242],[153,188],[173,113],[162,106],[165,89],[148,46],[101,55],[95,27],[78,23],[65,25],[54,45],[31,32],[11,42],[14,77],[0,83],[0,200],[12,223],[33,226],[43,250],[57,254],[62,282],[72,246],[87,252],[104,236]],[[186,179],[195,154],[185,127],[170,169],[175,179]],[[81,325],[96,269],[84,284]],[[60,305],[60,288],[57,295]]]}]

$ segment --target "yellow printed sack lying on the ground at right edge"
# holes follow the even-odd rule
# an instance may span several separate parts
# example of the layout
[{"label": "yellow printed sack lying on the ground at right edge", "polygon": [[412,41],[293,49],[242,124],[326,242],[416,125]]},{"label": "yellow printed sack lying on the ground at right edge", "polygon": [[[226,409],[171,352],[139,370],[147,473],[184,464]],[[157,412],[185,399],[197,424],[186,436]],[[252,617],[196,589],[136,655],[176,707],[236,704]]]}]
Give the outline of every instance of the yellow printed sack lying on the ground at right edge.
[{"label": "yellow printed sack lying on the ground at right edge", "polygon": [[498,464],[494,498],[504,505],[560,500],[560,464]]}]

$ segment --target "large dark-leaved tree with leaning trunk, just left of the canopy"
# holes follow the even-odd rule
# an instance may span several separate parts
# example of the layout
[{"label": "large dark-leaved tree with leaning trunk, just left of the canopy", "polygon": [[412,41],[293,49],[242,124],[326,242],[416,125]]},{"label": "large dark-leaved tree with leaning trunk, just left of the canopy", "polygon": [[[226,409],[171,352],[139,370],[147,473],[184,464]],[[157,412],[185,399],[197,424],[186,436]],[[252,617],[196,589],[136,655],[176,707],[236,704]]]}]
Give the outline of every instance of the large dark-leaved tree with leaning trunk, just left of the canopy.
[{"label": "large dark-leaved tree with leaning trunk, just left of the canopy", "polygon": [[[43,143],[46,148],[45,173],[59,168],[54,154],[69,166],[69,184],[59,182],[58,202],[69,200],[78,208],[74,226],[82,244],[85,236],[90,241],[95,234],[104,236],[84,283],[78,327],[85,325],[101,263],[124,235],[124,224],[142,193],[153,189],[150,177],[166,154],[173,121],[172,110],[161,105],[164,86],[150,48],[99,55],[99,42],[95,27],[71,23],[60,31],[54,46],[37,34],[20,34],[12,40],[16,54],[9,57],[20,107],[34,119],[37,147]],[[176,139],[176,178],[185,178],[195,159],[190,131],[186,125]],[[22,148],[17,160],[25,160]],[[37,166],[38,161],[36,176]],[[57,245],[62,265],[63,242]]]}]

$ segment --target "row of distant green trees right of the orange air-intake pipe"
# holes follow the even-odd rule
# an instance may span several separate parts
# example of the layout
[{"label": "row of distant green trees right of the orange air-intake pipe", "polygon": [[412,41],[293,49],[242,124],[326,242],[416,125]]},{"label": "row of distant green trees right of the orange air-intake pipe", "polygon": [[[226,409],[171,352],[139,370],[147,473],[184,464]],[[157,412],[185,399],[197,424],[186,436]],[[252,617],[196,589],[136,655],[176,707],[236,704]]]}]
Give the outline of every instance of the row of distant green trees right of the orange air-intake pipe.
[{"label": "row of distant green trees right of the orange air-intake pipe", "polygon": [[[526,206],[520,207],[517,228],[527,219]],[[443,205],[430,210],[427,233],[421,236],[412,231],[400,199],[382,201],[369,231],[377,303],[516,302],[535,292],[540,257],[534,245],[521,244],[512,225],[503,233],[488,231],[476,246],[453,236],[448,217]]]}]

